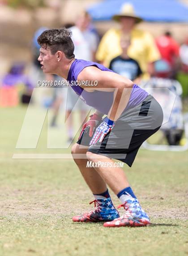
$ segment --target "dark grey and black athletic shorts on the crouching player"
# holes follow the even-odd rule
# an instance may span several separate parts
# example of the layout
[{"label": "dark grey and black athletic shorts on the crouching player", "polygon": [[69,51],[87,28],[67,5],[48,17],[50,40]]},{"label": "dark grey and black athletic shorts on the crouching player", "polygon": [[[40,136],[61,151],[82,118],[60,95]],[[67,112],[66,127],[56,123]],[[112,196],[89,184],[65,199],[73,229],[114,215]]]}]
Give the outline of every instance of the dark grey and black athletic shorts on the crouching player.
[{"label": "dark grey and black athletic shorts on the crouching player", "polygon": [[120,160],[131,167],[141,144],[161,127],[162,121],[161,106],[148,95],[139,105],[121,114],[101,143],[89,146],[92,138],[86,128],[77,144],[89,146],[88,151]]}]

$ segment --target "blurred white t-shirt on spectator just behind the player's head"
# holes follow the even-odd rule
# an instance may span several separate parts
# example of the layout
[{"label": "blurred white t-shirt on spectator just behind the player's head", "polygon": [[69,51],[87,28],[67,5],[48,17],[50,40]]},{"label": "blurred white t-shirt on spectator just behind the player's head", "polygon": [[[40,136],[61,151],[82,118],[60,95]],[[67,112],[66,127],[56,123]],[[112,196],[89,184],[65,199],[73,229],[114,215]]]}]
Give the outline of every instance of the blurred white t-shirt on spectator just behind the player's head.
[{"label": "blurred white t-shirt on spectator just behind the player's head", "polygon": [[74,44],[75,58],[92,61],[93,52],[97,50],[98,38],[89,31],[80,31],[76,26],[70,27],[72,31],[72,40]]}]

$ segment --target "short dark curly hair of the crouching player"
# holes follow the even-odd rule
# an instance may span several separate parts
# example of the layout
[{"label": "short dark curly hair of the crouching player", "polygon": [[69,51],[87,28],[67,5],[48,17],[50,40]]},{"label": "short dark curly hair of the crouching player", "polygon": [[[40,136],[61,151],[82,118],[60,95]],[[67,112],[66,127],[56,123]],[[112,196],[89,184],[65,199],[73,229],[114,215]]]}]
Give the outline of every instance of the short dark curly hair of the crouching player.
[{"label": "short dark curly hair of the crouching player", "polygon": [[47,49],[50,47],[51,54],[55,54],[57,51],[64,52],[66,58],[74,58],[74,44],[71,39],[72,32],[63,27],[60,29],[45,30],[40,36],[38,36],[38,44]]}]

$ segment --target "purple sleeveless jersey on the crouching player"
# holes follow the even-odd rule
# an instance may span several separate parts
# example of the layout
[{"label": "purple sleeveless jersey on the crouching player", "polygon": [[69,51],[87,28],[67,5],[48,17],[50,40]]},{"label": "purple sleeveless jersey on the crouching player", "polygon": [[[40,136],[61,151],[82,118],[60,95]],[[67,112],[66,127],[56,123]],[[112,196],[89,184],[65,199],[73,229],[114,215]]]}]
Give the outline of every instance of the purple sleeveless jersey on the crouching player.
[{"label": "purple sleeveless jersey on the crouching player", "polygon": [[[71,81],[77,81],[77,76],[79,75],[79,73],[85,67],[89,67],[89,66],[98,67],[102,71],[113,72],[112,70],[108,69],[107,67],[104,67],[101,64],[91,62],[91,61],[86,61],[83,59],[76,59],[70,67],[67,81],[70,84],[71,84]],[[71,85],[71,88],[76,92],[76,94],[79,95],[80,99],[82,99],[87,105],[97,109],[98,111],[106,115],[108,114],[111,108],[111,105],[113,103],[113,96],[114,96],[113,92],[103,92],[98,90],[95,90],[94,92],[86,92],[79,85]],[[127,110],[128,108],[133,108],[137,106],[147,96],[148,96],[148,93],[145,90],[141,89],[137,85],[133,85],[132,92],[125,110]]]}]

